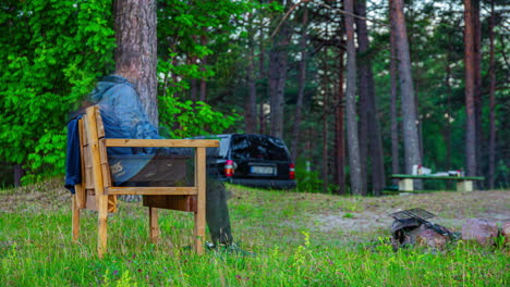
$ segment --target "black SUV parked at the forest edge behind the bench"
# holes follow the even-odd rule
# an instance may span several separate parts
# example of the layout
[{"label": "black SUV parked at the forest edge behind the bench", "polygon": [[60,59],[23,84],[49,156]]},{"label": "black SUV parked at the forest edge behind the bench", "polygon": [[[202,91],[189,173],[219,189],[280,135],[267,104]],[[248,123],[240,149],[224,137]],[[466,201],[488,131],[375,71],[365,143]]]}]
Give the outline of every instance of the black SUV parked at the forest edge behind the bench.
[{"label": "black SUV parked at the forest edge behind the bench", "polygon": [[295,188],[294,164],[286,144],[279,138],[254,134],[194,138],[220,140],[220,147],[212,159],[208,159],[208,164],[214,165],[219,177],[229,183],[264,188]]}]

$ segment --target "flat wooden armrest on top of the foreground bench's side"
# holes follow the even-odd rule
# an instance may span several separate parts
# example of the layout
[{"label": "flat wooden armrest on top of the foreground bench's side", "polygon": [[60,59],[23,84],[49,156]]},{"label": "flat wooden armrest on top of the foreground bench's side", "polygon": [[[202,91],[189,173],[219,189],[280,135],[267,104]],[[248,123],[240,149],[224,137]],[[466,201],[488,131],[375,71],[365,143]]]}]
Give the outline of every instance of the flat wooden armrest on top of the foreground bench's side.
[{"label": "flat wooden armrest on top of the foreground bench's side", "polygon": [[217,148],[216,139],[126,139],[107,138],[107,147],[147,147],[147,148]]}]

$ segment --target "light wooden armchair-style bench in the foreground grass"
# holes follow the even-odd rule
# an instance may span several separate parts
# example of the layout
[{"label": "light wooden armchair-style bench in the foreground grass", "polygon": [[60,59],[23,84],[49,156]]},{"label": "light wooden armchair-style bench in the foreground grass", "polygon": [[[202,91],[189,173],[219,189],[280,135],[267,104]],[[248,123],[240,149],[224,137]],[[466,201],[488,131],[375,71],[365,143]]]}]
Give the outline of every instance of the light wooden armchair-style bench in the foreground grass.
[{"label": "light wooden armchair-style bench in the foreground grass", "polygon": [[[203,253],[206,210],[206,148],[218,147],[218,140],[192,139],[114,139],[105,138],[105,128],[97,105],[86,110],[78,122],[82,159],[82,184],[75,186],[72,203],[72,234],[76,241],[80,235],[80,210],[98,212],[97,252],[102,258],[107,252],[108,213],[117,212],[117,196],[142,195],[148,207],[149,236],[154,242],[159,238],[157,209],[180,210],[194,213],[194,250]],[[194,148],[194,186],[191,187],[117,187],[112,186],[108,164],[108,147],[173,147]],[[193,185],[192,184],[192,185]]]}]

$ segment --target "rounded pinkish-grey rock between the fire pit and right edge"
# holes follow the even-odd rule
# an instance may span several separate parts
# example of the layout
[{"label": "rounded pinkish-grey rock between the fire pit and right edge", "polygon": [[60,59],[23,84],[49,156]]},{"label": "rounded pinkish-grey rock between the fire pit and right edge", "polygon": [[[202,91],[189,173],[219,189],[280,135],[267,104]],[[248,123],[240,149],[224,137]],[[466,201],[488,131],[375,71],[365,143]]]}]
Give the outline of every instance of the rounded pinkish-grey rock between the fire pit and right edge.
[{"label": "rounded pinkish-grey rock between the fire pit and right edge", "polygon": [[488,220],[470,219],[462,225],[462,240],[476,241],[483,246],[494,244],[498,226]]}]

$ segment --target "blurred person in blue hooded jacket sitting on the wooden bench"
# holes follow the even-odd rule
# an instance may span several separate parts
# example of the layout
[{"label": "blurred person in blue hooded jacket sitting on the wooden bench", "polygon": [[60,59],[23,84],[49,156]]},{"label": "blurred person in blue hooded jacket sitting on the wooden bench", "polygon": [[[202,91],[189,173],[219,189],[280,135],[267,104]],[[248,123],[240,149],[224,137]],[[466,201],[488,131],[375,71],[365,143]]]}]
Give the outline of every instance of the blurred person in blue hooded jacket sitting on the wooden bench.
[{"label": "blurred person in blue hooded jacket sitting on the wooden bench", "polygon": [[[104,77],[87,100],[99,107],[107,138],[162,138],[158,128],[148,121],[134,85],[126,78],[119,75]],[[117,186],[174,182],[182,174],[165,169],[165,163],[161,164],[163,161],[158,159],[166,154],[190,152],[183,148],[108,148],[112,182]],[[72,152],[68,149],[68,153],[69,165]],[[72,180],[68,180],[72,178],[71,173],[68,166],[66,186],[72,186]],[[206,188],[206,221],[214,245],[232,245],[227,191],[222,182],[210,176]]]}]

